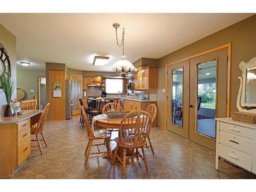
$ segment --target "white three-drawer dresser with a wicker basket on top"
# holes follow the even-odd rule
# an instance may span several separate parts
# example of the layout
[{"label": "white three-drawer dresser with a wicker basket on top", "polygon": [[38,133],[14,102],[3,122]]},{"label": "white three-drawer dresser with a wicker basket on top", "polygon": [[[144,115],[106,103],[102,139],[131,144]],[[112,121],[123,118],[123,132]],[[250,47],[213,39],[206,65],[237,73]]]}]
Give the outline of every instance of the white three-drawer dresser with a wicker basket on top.
[{"label": "white three-drawer dresser with a wicker basket on top", "polygon": [[216,169],[219,157],[256,174],[256,125],[217,118]]}]

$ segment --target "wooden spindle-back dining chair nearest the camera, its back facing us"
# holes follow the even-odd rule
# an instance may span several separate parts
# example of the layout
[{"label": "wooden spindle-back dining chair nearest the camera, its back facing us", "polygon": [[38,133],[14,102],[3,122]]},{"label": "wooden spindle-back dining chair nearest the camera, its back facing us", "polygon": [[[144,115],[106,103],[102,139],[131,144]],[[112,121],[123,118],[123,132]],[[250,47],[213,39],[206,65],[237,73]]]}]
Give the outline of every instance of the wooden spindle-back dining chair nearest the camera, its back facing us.
[{"label": "wooden spindle-back dining chair nearest the camera, its back facing us", "polygon": [[[147,167],[147,161],[144,151],[144,146],[146,145],[146,138],[150,134],[152,126],[152,117],[149,113],[145,111],[132,111],[126,114],[120,122],[119,127],[119,137],[115,138],[117,143],[115,148],[114,158],[112,160],[113,164],[115,159],[122,163],[122,177],[125,179],[125,163],[126,159],[133,159],[135,157],[141,157],[144,161],[146,173],[149,173]],[[132,133],[132,134],[127,134]],[[121,147],[123,149],[123,157],[118,156],[118,149]],[[138,149],[141,148],[142,155],[138,152]],[[134,150],[136,153],[134,154]],[[132,152],[131,156],[126,157],[126,150]]]}]

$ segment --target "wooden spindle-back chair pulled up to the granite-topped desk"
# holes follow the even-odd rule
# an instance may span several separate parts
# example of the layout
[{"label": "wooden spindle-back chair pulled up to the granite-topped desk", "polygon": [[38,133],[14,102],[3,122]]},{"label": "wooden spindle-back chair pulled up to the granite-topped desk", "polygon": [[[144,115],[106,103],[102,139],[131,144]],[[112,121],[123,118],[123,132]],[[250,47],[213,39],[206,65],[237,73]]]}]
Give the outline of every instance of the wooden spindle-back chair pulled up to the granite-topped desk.
[{"label": "wooden spindle-back chair pulled up to the granite-topped desk", "polygon": [[[42,146],[41,146],[40,141],[44,141],[45,145],[48,146],[47,140],[46,140],[45,136],[42,134],[42,132],[45,131],[45,122],[46,122],[49,108],[50,108],[50,103],[47,103],[44,111],[42,111],[42,113],[41,113],[38,123],[36,123],[30,127],[30,134],[35,135],[35,137],[36,137],[36,139],[31,139],[31,147],[37,147],[37,145],[33,145],[33,143],[35,141],[37,141],[37,144],[38,144],[41,154],[43,154],[43,152],[42,152]],[[39,139],[38,134],[41,134],[42,139]]]}]

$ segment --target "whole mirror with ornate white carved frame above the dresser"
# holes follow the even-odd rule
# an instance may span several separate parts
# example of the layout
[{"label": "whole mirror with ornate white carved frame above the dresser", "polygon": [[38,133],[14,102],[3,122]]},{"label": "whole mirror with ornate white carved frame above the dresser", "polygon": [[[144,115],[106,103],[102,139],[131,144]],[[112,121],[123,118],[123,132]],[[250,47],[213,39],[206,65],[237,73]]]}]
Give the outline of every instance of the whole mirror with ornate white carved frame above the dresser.
[{"label": "whole mirror with ornate white carved frame above the dresser", "polygon": [[256,113],[256,57],[249,62],[240,62],[242,71],[237,108],[241,112]]}]

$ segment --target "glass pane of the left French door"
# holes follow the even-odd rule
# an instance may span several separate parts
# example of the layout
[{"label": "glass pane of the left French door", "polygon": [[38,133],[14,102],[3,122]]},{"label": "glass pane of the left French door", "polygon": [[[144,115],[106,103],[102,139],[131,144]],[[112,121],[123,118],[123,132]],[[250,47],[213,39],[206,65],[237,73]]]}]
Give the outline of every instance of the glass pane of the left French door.
[{"label": "glass pane of the left French door", "polygon": [[182,126],[183,69],[172,71],[172,123]]}]

